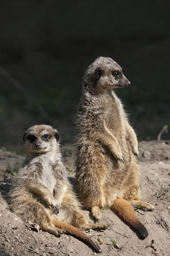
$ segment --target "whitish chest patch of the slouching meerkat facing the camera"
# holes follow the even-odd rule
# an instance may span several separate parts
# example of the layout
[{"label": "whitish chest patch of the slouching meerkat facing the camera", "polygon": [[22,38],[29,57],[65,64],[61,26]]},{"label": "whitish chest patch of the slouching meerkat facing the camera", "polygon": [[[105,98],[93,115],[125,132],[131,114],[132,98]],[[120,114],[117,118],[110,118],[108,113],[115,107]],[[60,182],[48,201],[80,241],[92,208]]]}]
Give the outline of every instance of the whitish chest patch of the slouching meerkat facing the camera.
[{"label": "whitish chest patch of the slouching meerkat facing the camera", "polygon": [[41,182],[50,189],[51,192],[54,190],[54,186],[56,184],[56,178],[54,176],[53,169],[51,166],[44,166],[42,175],[41,175]]}]

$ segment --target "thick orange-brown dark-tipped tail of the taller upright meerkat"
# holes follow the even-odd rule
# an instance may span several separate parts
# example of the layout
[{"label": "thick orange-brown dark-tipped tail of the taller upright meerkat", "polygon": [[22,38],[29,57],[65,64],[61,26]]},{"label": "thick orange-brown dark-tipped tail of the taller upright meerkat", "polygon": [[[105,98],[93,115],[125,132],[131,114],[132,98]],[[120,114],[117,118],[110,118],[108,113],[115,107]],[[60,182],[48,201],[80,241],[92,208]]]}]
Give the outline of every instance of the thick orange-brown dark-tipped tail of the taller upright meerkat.
[{"label": "thick orange-brown dark-tipped tail of the taller upright meerkat", "polygon": [[134,228],[139,237],[145,238],[148,237],[148,231],[139,221],[134,213],[134,209],[129,201],[118,198],[112,203],[112,209],[127,222],[132,228]]}]

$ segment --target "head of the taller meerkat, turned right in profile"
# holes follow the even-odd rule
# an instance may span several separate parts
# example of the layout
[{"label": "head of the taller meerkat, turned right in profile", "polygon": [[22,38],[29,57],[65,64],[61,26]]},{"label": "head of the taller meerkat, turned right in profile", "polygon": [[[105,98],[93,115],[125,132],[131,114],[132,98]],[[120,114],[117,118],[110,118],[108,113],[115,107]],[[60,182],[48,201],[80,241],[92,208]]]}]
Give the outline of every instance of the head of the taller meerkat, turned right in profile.
[{"label": "head of the taller meerkat, turned right in profile", "polygon": [[130,86],[120,65],[111,58],[98,57],[85,72],[83,87],[91,91],[105,91]]}]

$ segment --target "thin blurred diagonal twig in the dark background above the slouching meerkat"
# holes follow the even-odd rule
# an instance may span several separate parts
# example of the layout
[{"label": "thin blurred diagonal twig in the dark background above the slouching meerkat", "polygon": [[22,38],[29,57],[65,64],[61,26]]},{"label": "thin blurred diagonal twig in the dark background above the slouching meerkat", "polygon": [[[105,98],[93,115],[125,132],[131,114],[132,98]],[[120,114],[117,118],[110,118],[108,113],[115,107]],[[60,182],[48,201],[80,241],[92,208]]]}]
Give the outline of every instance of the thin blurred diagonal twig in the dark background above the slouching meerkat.
[{"label": "thin blurred diagonal twig in the dark background above the slouching meerkat", "polygon": [[32,102],[37,111],[40,113],[40,116],[42,116],[44,119],[49,120],[50,122],[55,122],[54,118],[52,116],[50,116],[45,109],[40,105],[39,102],[37,102],[36,98],[34,98],[31,93],[29,93],[23,86],[21,83],[19,83],[17,81],[17,79],[15,79],[11,74],[9,74],[9,72],[7,70],[4,69],[4,67],[2,67],[0,65],[0,74],[10,83],[12,84],[15,88],[18,89],[18,91],[20,91],[23,96],[25,98],[27,98],[28,102]]}]

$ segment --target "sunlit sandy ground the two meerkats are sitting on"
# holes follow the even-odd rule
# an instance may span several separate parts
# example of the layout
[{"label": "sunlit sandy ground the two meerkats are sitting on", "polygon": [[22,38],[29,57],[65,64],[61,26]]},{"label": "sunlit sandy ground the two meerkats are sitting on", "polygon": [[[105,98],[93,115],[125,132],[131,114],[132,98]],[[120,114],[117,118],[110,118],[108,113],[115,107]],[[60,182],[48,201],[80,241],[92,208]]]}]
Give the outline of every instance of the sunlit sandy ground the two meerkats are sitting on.
[{"label": "sunlit sandy ground the two meerkats are sitting on", "polygon": [[[103,256],[169,256],[170,255],[170,141],[140,142],[140,186],[143,199],[152,205],[153,212],[140,209],[136,215],[148,229],[149,236],[140,240],[134,231],[110,209],[104,209],[100,222],[106,222],[109,228],[103,232],[90,230],[88,233],[100,243]],[[68,166],[69,180],[74,183],[75,148],[62,147],[63,162]],[[5,201],[12,175],[8,173],[4,181],[4,172],[18,169],[24,157],[0,150],[0,256],[84,256],[95,255],[86,244],[68,235],[57,238],[49,233],[33,228],[31,224],[11,213]],[[10,167],[10,168],[9,168]],[[14,170],[15,171],[15,170]],[[89,212],[84,211],[90,219]],[[111,238],[122,249],[114,247]],[[151,247],[151,241],[154,243]]]}]

